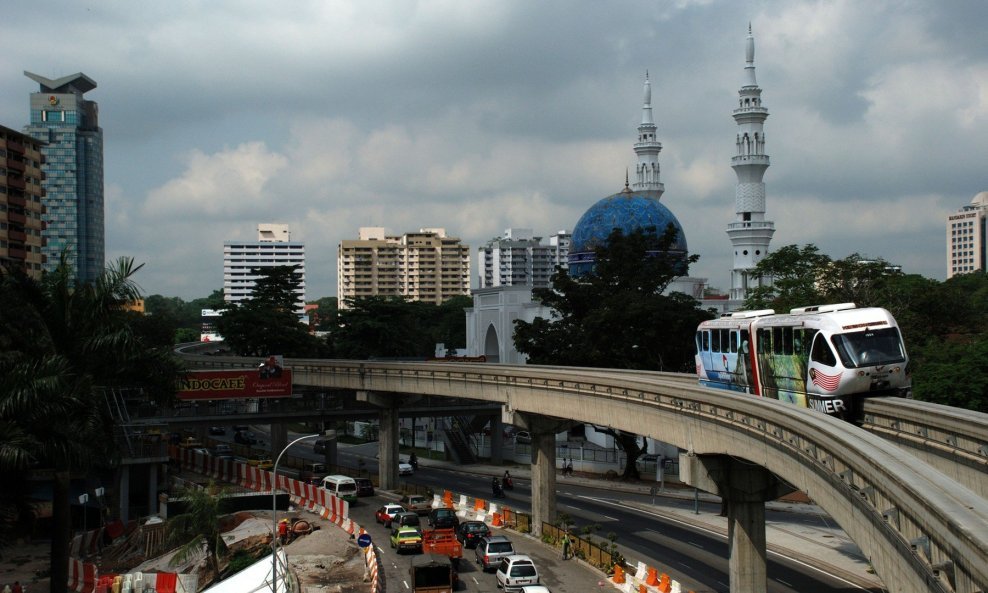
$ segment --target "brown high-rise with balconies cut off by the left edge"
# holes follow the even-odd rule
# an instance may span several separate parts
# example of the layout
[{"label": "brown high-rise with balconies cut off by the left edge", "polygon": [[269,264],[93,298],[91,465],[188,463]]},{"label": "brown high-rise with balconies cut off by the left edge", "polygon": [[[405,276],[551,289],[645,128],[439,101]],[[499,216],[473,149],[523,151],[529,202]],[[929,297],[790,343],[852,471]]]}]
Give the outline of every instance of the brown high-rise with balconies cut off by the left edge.
[{"label": "brown high-rise with balconies cut off by the left edge", "polygon": [[45,245],[42,143],[0,126],[0,265],[41,277]]}]

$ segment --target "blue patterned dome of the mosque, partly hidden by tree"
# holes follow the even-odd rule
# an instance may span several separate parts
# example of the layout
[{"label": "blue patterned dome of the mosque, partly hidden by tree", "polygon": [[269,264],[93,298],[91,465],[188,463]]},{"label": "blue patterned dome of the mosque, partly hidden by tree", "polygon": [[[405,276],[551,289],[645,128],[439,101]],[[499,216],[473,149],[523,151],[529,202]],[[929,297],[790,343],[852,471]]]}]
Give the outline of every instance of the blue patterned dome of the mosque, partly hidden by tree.
[{"label": "blue patterned dome of the mosque, partly hidden by tree", "polygon": [[579,277],[593,270],[596,249],[607,243],[615,229],[629,235],[637,229],[651,228],[656,237],[661,237],[671,224],[676,229],[676,239],[665,253],[685,256],[688,252],[686,234],[672,211],[659,202],[660,195],[661,192],[635,191],[625,186],[622,191],[591,206],[573,229],[569,274]]}]

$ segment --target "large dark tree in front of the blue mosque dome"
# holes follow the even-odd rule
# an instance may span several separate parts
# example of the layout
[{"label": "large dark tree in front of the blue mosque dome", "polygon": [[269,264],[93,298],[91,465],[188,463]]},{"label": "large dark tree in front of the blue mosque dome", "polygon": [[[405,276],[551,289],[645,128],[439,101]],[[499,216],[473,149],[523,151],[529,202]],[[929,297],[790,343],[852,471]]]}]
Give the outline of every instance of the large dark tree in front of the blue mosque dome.
[{"label": "large dark tree in front of the blue mosque dome", "polygon": [[532,364],[692,370],[693,334],[710,314],[687,295],[662,294],[697,260],[647,255],[671,246],[670,231],[656,238],[648,229],[627,236],[615,229],[593,272],[572,278],[557,271],[553,288],[534,291],[556,317],[516,321],[518,351]]}]

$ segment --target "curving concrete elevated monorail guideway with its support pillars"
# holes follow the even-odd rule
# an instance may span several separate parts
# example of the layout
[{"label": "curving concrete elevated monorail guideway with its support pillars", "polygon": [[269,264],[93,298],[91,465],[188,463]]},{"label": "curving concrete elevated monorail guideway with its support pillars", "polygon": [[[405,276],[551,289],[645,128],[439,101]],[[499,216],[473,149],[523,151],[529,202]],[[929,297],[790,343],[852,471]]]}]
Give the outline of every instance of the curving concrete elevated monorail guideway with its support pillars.
[{"label": "curving concrete elevated monorail guideway with its support pillars", "polygon": [[[198,368],[255,361],[185,356]],[[362,392],[396,429],[404,396],[497,403],[533,436],[535,524],[555,517],[554,434],[567,422],[609,425],[685,450],[697,485],[729,500],[731,590],[763,592],[764,501],[807,492],[870,559],[890,591],[988,590],[988,503],[903,449],[851,424],[775,401],[717,393],[682,376],[563,367],[286,361],[299,385]],[[381,440],[393,474],[397,439]],[[387,449],[385,451],[384,449]],[[382,482],[385,481],[382,475]],[[781,478],[781,480],[779,479]],[[390,482],[390,480],[388,480]]]}]

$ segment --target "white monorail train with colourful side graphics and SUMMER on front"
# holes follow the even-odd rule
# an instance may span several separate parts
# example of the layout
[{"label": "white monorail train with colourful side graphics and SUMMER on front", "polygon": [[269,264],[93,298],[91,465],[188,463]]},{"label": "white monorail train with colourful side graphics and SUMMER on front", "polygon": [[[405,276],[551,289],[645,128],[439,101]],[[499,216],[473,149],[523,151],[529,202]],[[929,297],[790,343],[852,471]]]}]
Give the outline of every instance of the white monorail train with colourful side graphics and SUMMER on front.
[{"label": "white monorail train with colourful side graphics and SUMMER on front", "polygon": [[696,331],[700,384],[753,393],[847,420],[860,399],[910,394],[902,335],[885,309],[854,303],[776,314],[740,311]]}]

